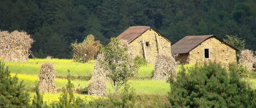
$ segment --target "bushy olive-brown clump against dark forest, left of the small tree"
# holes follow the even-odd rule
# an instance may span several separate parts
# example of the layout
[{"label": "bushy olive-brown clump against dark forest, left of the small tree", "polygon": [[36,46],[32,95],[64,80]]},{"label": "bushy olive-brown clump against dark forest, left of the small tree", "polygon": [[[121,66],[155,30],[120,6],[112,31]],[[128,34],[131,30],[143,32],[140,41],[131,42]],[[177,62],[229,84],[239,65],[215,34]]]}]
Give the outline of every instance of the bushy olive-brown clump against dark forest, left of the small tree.
[{"label": "bushy olive-brown clump against dark forest, left of the small tree", "polygon": [[88,62],[94,59],[100,49],[100,41],[94,41],[93,35],[88,35],[82,43],[75,42],[73,48],[73,61]]}]

